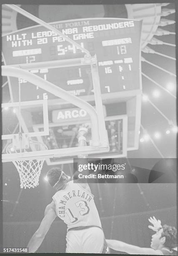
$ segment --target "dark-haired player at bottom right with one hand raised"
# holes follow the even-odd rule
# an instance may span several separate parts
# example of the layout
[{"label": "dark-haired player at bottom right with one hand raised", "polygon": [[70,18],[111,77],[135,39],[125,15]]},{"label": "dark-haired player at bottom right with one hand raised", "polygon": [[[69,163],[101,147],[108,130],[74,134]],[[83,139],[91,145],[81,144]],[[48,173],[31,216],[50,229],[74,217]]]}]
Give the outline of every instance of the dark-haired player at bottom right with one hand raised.
[{"label": "dark-haired player at bottom right with one hand raised", "polygon": [[148,226],[155,231],[151,239],[151,248],[142,248],[133,246],[117,240],[106,240],[108,246],[115,251],[124,251],[129,254],[146,254],[146,255],[178,255],[175,251],[177,245],[177,230],[175,227],[161,225],[160,220],[155,217],[149,219],[153,226]]}]

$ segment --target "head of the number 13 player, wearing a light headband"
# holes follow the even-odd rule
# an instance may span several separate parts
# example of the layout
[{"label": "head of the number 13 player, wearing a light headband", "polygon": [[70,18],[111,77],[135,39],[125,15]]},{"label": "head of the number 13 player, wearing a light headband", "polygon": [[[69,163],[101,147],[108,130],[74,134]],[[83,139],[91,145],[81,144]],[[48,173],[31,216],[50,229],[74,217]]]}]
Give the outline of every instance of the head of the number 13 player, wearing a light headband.
[{"label": "head of the number 13 player, wearing a light headband", "polygon": [[51,187],[59,190],[64,184],[70,181],[70,176],[66,175],[59,167],[53,167],[47,172],[47,179]]}]

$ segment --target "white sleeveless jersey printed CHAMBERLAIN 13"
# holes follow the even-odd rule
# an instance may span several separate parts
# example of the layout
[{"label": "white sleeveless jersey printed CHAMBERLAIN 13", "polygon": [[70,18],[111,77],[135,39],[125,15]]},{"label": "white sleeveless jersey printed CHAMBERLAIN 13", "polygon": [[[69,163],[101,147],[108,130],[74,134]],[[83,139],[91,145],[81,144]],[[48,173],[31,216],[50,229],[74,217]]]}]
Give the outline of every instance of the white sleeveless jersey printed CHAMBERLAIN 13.
[{"label": "white sleeveless jersey printed CHAMBERLAIN 13", "polygon": [[69,228],[81,226],[101,227],[100,217],[96,209],[93,195],[73,180],[67,187],[53,196],[56,214]]}]

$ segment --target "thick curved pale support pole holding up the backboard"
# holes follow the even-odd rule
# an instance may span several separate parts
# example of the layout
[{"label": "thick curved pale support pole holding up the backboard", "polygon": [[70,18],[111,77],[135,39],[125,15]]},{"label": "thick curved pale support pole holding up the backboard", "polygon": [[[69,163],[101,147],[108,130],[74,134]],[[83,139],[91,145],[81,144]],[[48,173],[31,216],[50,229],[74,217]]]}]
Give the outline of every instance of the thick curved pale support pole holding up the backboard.
[{"label": "thick curved pale support pole holding up the backboard", "polygon": [[[95,87],[94,92],[95,93],[97,92],[95,100],[96,102],[98,102],[96,104],[96,110],[95,110],[93,106],[91,106],[88,102],[81,100],[79,97],[76,97],[70,94],[69,92],[61,89],[60,87],[57,87],[56,85],[26,70],[22,70],[16,67],[2,66],[2,75],[10,76],[10,77],[21,77],[22,79],[27,80],[31,84],[35,84],[36,86],[42,88],[43,90],[46,90],[52,93],[53,95],[63,98],[64,100],[72,103],[73,105],[76,105],[79,108],[84,109],[90,115],[90,120],[91,120],[92,140],[90,141],[90,147],[105,148],[105,151],[109,150],[105,125],[104,126],[102,124],[99,125],[99,120],[98,120],[98,115],[101,115],[100,120],[102,119],[103,106],[102,106],[102,101],[97,100],[98,98],[101,98],[101,96],[100,96],[100,86],[96,86],[96,83],[93,84],[93,86]],[[98,81],[98,78],[96,79],[96,81]],[[99,109],[98,109],[98,106],[99,106]],[[98,115],[97,115],[97,112],[98,112]],[[86,151],[87,151],[87,148],[86,148]]]}]

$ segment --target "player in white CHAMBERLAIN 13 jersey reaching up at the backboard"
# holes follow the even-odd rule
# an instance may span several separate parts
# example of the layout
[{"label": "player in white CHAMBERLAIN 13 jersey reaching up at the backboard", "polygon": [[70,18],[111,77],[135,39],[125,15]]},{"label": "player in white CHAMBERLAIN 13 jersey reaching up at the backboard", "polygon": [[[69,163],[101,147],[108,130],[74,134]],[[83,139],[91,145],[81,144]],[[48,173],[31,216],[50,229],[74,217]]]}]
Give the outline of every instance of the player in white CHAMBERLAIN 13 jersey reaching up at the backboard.
[{"label": "player in white CHAMBERLAIN 13 jersey reaching up at the backboard", "polygon": [[[86,146],[87,129],[79,129],[79,146]],[[86,162],[83,157],[83,164]],[[106,253],[107,245],[101,228],[98,210],[87,183],[74,183],[60,168],[47,173],[48,182],[57,191],[46,207],[38,230],[28,243],[29,253],[34,253],[45,238],[51,224],[58,216],[68,227],[66,253]]]}]

